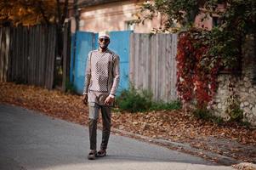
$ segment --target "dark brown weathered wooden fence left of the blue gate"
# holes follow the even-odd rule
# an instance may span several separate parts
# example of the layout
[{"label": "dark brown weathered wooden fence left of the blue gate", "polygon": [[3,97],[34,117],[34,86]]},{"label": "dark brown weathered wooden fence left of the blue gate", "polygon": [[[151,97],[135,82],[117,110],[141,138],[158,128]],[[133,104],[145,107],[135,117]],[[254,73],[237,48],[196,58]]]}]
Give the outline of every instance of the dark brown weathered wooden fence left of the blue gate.
[{"label": "dark brown weathered wooden fence left of the blue gate", "polygon": [[[65,25],[64,30],[63,52],[58,62],[64,73],[63,90],[70,64],[70,23]],[[0,82],[53,88],[58,50],[56,31],[54,25],[0,27]]]}]

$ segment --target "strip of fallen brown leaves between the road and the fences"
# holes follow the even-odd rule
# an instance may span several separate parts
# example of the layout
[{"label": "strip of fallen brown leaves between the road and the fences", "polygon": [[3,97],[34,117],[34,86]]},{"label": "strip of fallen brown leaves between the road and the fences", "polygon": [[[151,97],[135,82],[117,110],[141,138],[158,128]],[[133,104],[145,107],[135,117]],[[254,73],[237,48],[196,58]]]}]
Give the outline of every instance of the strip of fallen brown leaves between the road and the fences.
[{"label": "strip of fallen brown leaves between the road and the fences", "polygon": [[[0,91],[0,103],[20,105],[47,116],[88,125],[88,107],[82,103],[81,96],[11,82],[0,82]],[[190,144],[239,161],[256,162],[256,129],[237,123],[218,125],[196,119],[184,111],[114,112],[111,123],[112,127],[129,133]]]}]

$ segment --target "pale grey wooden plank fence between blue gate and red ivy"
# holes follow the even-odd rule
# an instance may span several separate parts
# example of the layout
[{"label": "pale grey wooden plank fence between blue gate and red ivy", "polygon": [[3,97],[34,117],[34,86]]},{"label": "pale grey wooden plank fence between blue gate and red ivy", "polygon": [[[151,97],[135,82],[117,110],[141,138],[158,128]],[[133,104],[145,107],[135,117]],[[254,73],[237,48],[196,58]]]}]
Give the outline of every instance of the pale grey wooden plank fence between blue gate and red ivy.
[{"label": "pale grey wooden plank fence between blue gate and red ivy", "polygon": [[176,34],[131,34],[129,78],[135,88],[149,89],[157,101],[177,99]]}]

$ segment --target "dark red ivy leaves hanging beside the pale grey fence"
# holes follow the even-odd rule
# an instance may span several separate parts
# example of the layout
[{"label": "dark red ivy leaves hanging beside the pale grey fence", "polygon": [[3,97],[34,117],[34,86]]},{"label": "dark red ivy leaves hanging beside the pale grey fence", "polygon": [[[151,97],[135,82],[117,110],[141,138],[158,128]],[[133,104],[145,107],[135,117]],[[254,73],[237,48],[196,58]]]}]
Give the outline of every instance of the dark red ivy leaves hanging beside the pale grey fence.
[{"label": "dark red ivy leaves hanging beside the pale grey fence", "polygon": [[219,65],[207,56],[208,47],[203,43],[206,40],[198,38],[199,34],[200,31],[186,31],[179,35],[177,88],[182,100],[196,99],[197,106],[204,107],[213,99],[217,88]]}]

